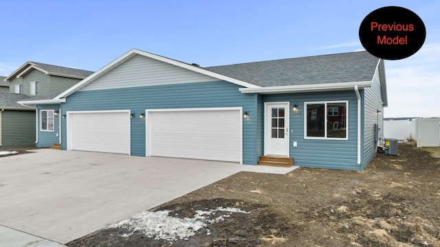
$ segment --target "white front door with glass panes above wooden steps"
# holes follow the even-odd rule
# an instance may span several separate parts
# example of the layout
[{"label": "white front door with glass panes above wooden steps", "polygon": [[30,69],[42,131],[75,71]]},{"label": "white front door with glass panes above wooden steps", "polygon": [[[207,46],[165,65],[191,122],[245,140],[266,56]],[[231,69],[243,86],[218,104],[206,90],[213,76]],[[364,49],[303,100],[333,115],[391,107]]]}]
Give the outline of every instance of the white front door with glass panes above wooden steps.
[{"label": "white front door with glass panes above wooden steps", "polygon": [[289,156],[289,102],[265,103],[265,155]]}]

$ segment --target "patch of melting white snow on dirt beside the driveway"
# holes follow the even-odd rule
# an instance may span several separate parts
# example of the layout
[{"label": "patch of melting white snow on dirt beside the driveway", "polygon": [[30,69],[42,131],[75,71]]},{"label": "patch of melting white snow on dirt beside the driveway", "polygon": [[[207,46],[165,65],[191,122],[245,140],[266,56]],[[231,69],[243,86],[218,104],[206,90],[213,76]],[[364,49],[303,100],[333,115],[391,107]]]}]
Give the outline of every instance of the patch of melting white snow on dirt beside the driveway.
[{"label": "patch of melting white snow on dirt beside the driveway", "polygon": [[[228,212],[227,215],[215,215],[217,211]],[[209,211],[197,210],[194,217],[178,217],[169,216],[170,211],[144,211],[134,215],[130,219],[122,220],[118,223],[112,224],[109,228],[126,228],[131,233],[124,234],[122,237],[129,237],[135,232],[144,233],[147,237],[154,237],[155,239],[165,239],[167,241],[174,241],[179,239],[188,239],[195,235],[199,229],[206,227],[207,223],[224,220],[225,217],[230,217],[232,213],[250,213],[236,208],[210,209]],[[222,213],[223,214],[223,213]],[[214,219],[210,219],[214,216]],[[207,228],[207,235],[210,231]]]}]

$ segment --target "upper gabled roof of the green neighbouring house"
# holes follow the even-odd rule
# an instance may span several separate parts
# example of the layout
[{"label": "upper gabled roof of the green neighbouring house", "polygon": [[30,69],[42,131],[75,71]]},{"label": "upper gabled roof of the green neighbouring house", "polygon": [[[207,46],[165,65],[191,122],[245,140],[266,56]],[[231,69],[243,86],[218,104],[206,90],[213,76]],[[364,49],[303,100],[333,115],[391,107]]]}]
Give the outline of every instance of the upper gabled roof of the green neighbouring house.
[{"label": "upper gabled roof of the green neighbouring house", "polygon": [[19,69],[10,74],[5,81],[9,81],[14,77],[22,78],[33,69],[41,71],[46,75],[56,75],[66,78],[84,79],[94,73],[93,71],[85,71],[83,69],[72,69],[68,67],[56,66],[51,64],[43,64],[41,62],[26,62]]}]

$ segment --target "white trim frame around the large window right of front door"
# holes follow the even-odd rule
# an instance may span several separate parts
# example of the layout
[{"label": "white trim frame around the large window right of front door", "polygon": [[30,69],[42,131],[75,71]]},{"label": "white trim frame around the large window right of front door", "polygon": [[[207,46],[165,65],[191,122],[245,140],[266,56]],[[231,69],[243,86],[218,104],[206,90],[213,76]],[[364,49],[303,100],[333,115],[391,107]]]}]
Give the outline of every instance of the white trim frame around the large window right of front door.
[{"label": "white trim frame around the large window right of front door", "polygon": [[[345,138],[334,138],[334,137],[327,137],[327,104],[332,103],[345,103],[345,111],[346,111],[346,119],[345,122]],[[325,107],[325,128],[324,128],[324,137],[307,137],[307,105],[308,104],[324,104]],[[334,100],[334,101],[322,101],[322,102],[304,102],[304,139],[309,140],[338,140],[338,141],[347,141],[349,139],[349,101],[348,100]],[[360,114],[360,113],[358,113]]]}]

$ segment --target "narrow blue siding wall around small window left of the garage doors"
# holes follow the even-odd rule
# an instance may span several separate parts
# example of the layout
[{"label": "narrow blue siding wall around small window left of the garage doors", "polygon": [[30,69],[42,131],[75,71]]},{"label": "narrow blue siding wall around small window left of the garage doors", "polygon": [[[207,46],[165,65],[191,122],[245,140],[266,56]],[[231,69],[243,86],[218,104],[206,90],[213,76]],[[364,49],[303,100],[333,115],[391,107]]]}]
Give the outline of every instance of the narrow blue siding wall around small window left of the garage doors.
[{"label": "narrow blue siding wall around small window left of the garage doors", "polygon": [[38,126],[38,142],[36,143],[36,146],[39,148],[49,148],[50,146],[54,145],[54,143],[59,143],[60,138],[56,136],[59,132],[59,117],[54,117],[54,131],[41,131],[41,111],[40,110],[59,110],[60,105],[59,104],[48,104],[48,105],[39,105],[38,106],[38,115],[36,116],[37,126]]}]

